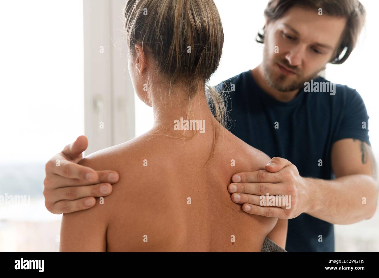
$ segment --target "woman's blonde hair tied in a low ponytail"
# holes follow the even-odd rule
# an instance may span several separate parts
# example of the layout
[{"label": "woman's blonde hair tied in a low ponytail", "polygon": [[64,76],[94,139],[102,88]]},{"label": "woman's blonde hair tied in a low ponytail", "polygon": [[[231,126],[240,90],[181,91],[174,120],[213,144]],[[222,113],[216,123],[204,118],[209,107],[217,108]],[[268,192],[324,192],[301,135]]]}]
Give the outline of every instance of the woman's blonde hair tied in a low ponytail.
[{"label": "woman's blonde hair tied in a low ponytail", "polygon": [[[123,13],[130,55],[139,43],[154,61],[157,74],[168,80],[169,89],[176,85],[185,89],[188,103],[203,87],[213,115],[225,126],[224,98],[207,85],[219,65],[224,42],[213,0],[128,0]],[[215,129],[215,139],[219,129]],[[215,144],[214,140],[211,157]]]}]

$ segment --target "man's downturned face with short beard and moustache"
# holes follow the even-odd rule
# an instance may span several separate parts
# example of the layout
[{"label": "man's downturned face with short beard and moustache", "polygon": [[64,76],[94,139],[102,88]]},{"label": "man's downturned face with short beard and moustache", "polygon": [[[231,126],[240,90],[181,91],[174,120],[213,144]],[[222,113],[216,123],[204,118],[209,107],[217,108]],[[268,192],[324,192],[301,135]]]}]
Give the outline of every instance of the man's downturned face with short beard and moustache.
[{"label": "man's downturned face with short beard and moustache", "polygon": [[263,71],[268,84],[282,92],[304,87],[332,59],[345,24],[345,18],[300,7],[266,23]]}]

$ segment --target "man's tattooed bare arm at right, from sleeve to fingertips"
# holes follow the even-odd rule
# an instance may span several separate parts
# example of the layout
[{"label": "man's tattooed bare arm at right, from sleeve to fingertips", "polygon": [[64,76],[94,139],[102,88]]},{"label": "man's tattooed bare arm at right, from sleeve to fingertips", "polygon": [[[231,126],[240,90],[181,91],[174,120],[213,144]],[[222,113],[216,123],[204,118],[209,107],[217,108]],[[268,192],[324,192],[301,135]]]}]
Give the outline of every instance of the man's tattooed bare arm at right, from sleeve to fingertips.
[{"label": "man's tattooed bare arm at right, from sleeve to fingertips", "polygon": [[[375,213],[378,199],[375,165],[370,146],[360,140],[342,139],[332,147],[335,180],[301,177],[287,159],[273,157],[266,165],[267,171],[233,175],[228,190],[233,193],[233,202],[242,203],[242,209],[250,214],[291,219],[308,213],[332,224],[352,224]],[[240,195],[238,201],[234,199],[236,194]],[[262,206],[260,197],[266,194],[270,198],[291,197],[290,206]]]}]

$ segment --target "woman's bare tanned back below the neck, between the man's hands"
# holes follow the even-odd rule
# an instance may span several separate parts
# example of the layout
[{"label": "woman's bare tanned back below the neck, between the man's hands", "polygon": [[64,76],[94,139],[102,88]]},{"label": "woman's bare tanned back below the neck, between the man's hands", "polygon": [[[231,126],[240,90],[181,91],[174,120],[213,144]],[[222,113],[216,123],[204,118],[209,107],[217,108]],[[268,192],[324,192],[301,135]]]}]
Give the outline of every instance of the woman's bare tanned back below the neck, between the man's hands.
[{"label": "woman's bare tanned back below the neck, between the man's hands", "polygon": [[235,173],[264,169],[269,157],[223,130],[204,167],[207,136],[143,135],[86,158],[120,174],[101,205],[107,251],[260,251],[277,218],[245,213],[227,186]]}]

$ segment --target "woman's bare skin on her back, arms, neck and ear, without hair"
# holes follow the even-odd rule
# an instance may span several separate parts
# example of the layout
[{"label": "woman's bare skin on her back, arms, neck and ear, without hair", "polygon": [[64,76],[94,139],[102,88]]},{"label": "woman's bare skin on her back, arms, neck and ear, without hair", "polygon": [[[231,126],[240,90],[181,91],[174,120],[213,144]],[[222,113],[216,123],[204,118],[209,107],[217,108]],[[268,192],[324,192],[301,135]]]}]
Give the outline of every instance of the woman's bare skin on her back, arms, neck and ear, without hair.
[{"label": "woman's bare skin on her back, arms, neck and ear, without hair", "polygon": [[[135,50],[129,71],[135,91],[145,100],[143,85],[153,75],[153,62],[140,45]],[[205,119],[205,132],[187,130],[186,140],[175,138],[182,137],[183,130],[173,129],[174,120],[186,115],[186,105],[177,105],[185,103],[183,90],[177,87],[164,104],[157,99],[152,93],[152,130],[79,162],[99,171],[115,169],[120,179],[103,204],[97,199],[91,210],[63,214],[60,251],[260,252],[269,233],[284,247],[285,221],[277,225],[275,217],[243,213],[225,190],[233,173],[264,170],[270,158],[216,122],[204,90],[196,93],[189,104],[192,114],[184,118]],[[207,163],[216,127],[220,134],[215,156]]]}]

